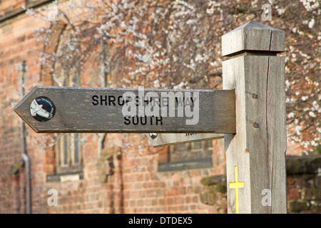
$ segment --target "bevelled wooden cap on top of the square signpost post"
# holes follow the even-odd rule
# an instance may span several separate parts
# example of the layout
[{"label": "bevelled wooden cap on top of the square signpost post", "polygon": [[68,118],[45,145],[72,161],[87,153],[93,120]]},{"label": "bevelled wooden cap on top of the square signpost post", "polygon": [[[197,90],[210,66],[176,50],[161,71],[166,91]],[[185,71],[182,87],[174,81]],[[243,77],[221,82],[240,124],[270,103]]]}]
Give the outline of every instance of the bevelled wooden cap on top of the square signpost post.
[{"label": "bevelled wooden cap on top of the square signpost post", "polygon": [[222,55],[233,56],[242,51],[271,51],[280,53],[285,50],[284,31],[250,21],[222,36]]}]

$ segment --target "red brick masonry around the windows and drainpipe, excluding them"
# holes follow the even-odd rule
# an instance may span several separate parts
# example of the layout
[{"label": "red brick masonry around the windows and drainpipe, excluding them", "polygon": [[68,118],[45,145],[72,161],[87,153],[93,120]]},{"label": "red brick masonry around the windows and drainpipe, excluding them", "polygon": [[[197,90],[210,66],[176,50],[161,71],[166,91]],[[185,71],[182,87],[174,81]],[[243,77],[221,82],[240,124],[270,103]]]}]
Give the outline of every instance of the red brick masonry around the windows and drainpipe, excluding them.
[{"label": "red brick masonry around the windows and drainpipe, excluding them", "polygon": [[[0,213],[25,212],[25,168],[9,175],[12,165],[21,160],[20,118],[12,108],[19,97],[19,73],[16,63],[26,61],[26,93],[35,85],[52,85],[50,78],[41,81],[39,51],[42,43],[32,36],[41,21],[20,15],[0,22]],[[99,86],[94,61],[86,64],[83,86]],[[86,82],[88,82],[86,84]],[[223,150],[215,150],[215,167],[178,172],[158,172],[158,150],[149,148],[145,135],[108,134],[106,145],[121,148],[121,157],[113,156],[113,175],[101,182],[98,170],[98,135],[84,134],[83,179],[46,182],[55,172],[54,135],[37,135],[27,128],[27,152],[31,158],[32,212],[34,213],[211,213],[213,207],[200,202],[207,175],[223,174]],[[127,139],[128,138],[128,139]],[[217,142],[215,142],[217,143]],[[47,200],[54,189],[58,206]]]}]

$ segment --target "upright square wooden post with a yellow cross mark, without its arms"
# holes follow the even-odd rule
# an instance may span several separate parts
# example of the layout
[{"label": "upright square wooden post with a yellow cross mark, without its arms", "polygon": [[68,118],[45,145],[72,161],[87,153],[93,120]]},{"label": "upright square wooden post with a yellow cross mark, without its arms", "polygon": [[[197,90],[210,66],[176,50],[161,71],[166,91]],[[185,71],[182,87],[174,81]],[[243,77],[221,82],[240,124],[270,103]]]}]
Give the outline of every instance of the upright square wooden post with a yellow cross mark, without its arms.
[{"label": "upright square wooden post with a yellow cross mark, without its arms", "polygon": [[287,213],[284,31],[250,21],[222,37],[223,89],[235,89],[225,134],[228,213]]}]

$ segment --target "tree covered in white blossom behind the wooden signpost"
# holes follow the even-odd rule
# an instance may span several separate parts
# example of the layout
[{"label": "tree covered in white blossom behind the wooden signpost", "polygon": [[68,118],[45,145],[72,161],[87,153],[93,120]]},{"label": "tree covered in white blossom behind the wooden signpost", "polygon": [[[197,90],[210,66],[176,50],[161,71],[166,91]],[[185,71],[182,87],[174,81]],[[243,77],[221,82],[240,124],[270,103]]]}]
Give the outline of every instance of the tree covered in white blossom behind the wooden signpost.
[{"label": "tree covered in white blossom behind the wooden signpost", "polygon": [[[49,19],[52,5],[56,20]],[[320,151],[321,6],[317,0],[69,0],[27,9],[48,21],[35,31],[50,43],[55,24],[71,36],[60,53],[44,51],[40,64],[84,68],[101,61],[102,86],[222,88],[220,37],[250,20],[285,31],[288,140]],[[263,5],[269,7],[262,7]],[[265,15],[269,15],[267,18]],[[110,80],[106,76],[110,76]],[[60,79],[54,79],[58,82]]]}]

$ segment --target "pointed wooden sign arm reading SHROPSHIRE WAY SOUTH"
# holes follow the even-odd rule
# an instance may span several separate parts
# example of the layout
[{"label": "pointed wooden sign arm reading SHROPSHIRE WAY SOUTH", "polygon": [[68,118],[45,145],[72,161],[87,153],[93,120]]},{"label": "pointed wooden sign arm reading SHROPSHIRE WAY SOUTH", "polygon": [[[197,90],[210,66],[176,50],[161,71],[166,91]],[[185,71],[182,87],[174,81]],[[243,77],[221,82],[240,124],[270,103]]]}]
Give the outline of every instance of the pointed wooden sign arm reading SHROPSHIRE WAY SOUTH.
[{"label": "pointed wooden sign arm reading SHROPSHIRE WAY SOUTH", "polygon": [[235,133],[233,90],[36,86],[14,110],[36,133]]}]

